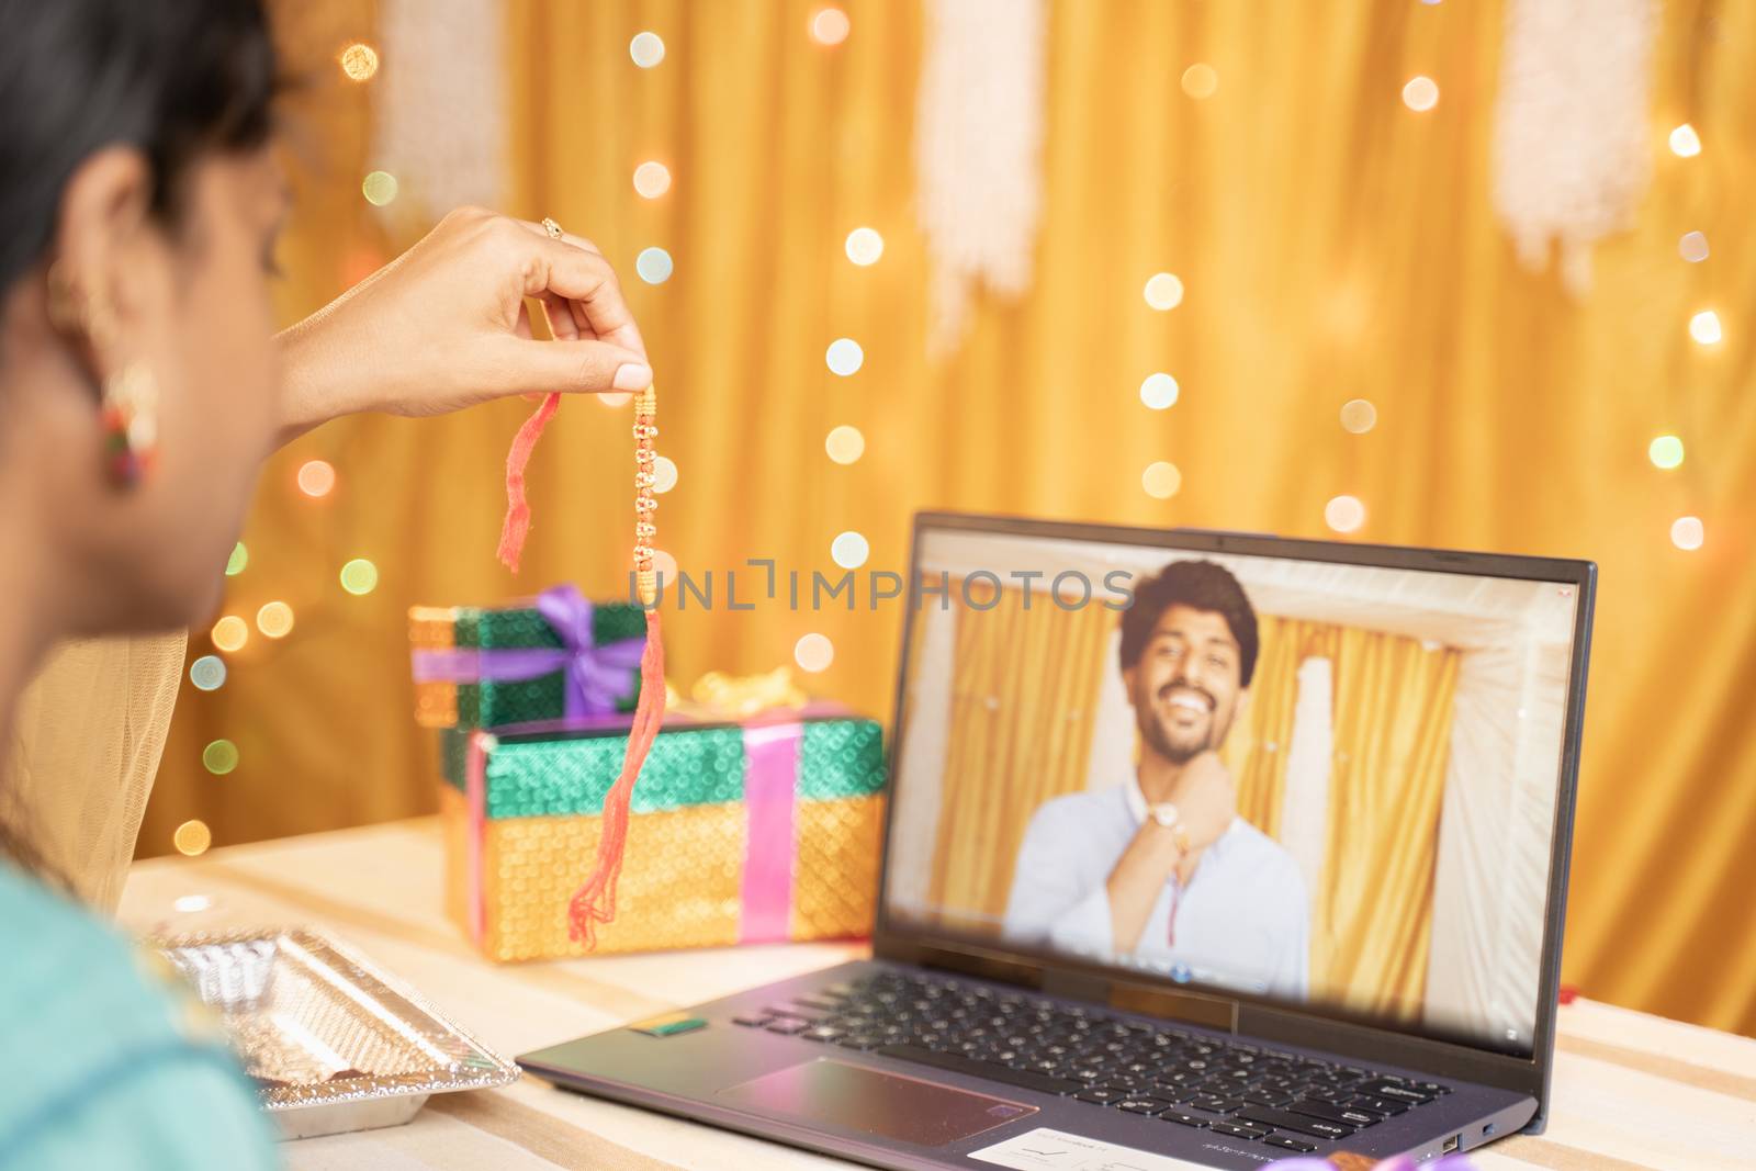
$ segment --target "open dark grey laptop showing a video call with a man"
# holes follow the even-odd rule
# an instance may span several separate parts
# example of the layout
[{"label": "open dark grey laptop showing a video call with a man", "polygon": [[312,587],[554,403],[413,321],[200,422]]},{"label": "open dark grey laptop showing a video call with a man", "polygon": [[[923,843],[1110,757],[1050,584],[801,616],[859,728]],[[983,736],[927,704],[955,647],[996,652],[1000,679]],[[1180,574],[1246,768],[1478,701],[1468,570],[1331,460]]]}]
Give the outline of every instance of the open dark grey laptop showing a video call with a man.
[{"label": "open dark grey laptop showing a video call with a man", "polygon": [[520,1062],[878,1167],[1538,1132],[1594,581],[920,514],[873,957]]}]

